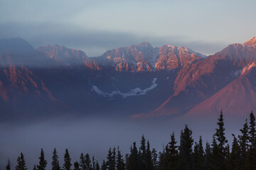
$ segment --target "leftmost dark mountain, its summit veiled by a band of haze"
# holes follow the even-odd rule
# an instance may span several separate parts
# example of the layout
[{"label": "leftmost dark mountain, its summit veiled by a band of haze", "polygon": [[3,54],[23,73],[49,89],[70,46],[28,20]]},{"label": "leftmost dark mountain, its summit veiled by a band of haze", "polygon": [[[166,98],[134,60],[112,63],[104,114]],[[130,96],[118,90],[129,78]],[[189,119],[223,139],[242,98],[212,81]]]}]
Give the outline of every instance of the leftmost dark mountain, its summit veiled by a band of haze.
[{"label": "leftmost dark mountain, its summit veiled by a band of haze", "polygon": [[[60,67],[21,38],[0,40],[0,106],[2,118],[67,108],[55,98],[34,69]],[[43,110],[41,108],[44,108]]]}]

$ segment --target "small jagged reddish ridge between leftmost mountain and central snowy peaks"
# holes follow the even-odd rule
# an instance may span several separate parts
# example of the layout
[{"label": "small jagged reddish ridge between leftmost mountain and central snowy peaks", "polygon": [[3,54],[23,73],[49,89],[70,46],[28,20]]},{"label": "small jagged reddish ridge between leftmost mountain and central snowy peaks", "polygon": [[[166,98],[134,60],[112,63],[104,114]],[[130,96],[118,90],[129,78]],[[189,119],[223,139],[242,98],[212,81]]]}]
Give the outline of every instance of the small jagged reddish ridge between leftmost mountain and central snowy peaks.
[{"label": "small jagged reddish ridge between leftmost mountain and central snowy peaks", "polygon": [[90,57],[85,55],[85,52],[80,50],[70,49],[60,45],[46,45],[37,48],[46,54],[47,57],[64,65],[78,65],[84,64],[90,69],[100,70],[99,65]]}]

